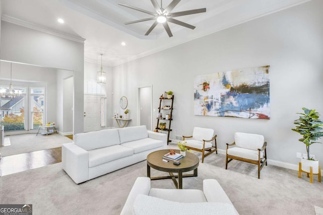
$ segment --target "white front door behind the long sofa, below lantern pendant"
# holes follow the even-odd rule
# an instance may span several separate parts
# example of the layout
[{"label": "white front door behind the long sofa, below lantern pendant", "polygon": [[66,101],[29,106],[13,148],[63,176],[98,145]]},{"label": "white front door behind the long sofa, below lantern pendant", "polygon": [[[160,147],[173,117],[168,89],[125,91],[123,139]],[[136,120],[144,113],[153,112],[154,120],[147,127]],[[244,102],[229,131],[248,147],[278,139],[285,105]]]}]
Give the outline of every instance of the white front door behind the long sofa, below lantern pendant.
[{"label": "white front door behind the long sofa, below lantern pendant", "polygon": [[100,130],[100,95],[84,94],[84,132]]}]

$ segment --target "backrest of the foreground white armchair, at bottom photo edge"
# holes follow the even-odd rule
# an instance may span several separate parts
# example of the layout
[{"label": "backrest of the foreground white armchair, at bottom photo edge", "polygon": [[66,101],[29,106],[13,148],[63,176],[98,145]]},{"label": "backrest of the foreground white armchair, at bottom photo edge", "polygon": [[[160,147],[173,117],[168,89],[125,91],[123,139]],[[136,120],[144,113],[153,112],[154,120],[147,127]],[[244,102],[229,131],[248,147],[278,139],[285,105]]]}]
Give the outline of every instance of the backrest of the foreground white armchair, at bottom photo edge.
[{"label": "backrest of the foreground white armchair, at bottom photo edge", "polygon": [[138,194],[134,202],[133,214],[237,214],[233,205],[222,202],[184,203]]}]

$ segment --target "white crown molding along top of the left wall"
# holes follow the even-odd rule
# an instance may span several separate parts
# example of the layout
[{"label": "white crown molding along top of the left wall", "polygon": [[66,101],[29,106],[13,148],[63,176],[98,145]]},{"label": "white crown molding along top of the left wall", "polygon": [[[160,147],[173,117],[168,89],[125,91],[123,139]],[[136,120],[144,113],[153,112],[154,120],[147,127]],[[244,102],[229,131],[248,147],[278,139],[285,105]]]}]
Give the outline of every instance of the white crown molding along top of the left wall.
[{"label": "white crown molding along top of the left wall", "polygon": [[44,27],[44,26],[41,26],[41,25],[37,25],[37,24],[34,24],[34,23],[30,23],[30,22],[26,22],[26,21],[14,18],[14,17],[10,17],[10,16],[7,16],[5,14],[2,15],[1,20],[5,21],[5,22],[12,23],[12,24],[15,24],[15,25],[19,25],[19,26],[22,26],[22,27],[30,28],[30,29],[33,29],[33,30],[36,30],[36,31],[40,31],[40,32],[55,35],[55,36],[58,36],[58,37],[62,37],[64,39],[72,40],[72,41],[75,41],[75,42],[78,42],[78,43],[84,44],[84,41],[85,41],[85,39],[82,38],[82,37],[74,36],[74,35],[71,35],[71,34],[66,34],[66,33],[56,31],[56,30],[53,30],[53,29],[50,29],[50,28],[47,28],[47,27]]}]

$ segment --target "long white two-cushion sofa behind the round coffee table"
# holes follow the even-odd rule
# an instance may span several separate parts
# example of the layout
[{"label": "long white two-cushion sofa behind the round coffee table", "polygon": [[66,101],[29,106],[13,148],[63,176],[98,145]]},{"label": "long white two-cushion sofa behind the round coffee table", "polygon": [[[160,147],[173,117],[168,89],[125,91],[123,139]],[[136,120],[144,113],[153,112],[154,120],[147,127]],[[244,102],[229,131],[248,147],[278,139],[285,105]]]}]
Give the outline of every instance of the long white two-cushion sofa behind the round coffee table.
[{"label": "long white two-cushion sofa behind the round coffee table", "polygon": [[74,135],[63,144],[65,172],[77,184],[138,163],[167,146],[167,135],[147,131],[146,126],[104,129]]}]

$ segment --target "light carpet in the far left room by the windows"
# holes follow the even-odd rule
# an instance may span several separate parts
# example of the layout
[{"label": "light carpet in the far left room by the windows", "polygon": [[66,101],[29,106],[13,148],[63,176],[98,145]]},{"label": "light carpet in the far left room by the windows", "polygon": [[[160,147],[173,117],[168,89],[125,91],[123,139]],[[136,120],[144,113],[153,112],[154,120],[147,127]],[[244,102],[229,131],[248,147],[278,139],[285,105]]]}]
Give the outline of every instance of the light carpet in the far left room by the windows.
[{"label": "light carpet in the far left room by the windows", "polygon": [[70,138],[60,134],[50,134],[48,136],[35,133],[17,134],[6,136],[10,139],[11,146],[0,147],[2,157],[17,155],[39,150],[46,150],[61,147],[62,144],[72,142]]}]

